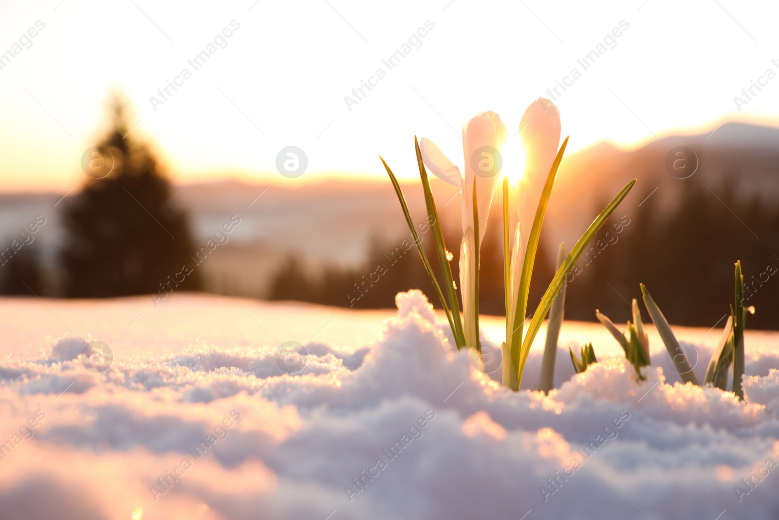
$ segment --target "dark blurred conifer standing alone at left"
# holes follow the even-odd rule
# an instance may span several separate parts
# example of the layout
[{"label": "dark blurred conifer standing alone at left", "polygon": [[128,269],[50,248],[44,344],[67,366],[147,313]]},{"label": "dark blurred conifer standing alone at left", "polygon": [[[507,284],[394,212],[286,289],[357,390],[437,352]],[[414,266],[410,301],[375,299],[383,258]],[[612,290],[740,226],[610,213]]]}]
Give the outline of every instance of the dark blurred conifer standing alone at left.
[{"label": "dark blurred conifer standing alone at left", "polygon": [[162,285],[199,290],[197,270],[174,280],[185,264],[194,265],[187,215],[171,199],[170,182],[149,148],[128,134],[125,104],[115,98],[112,110],[112,127],[99,143],[110,155],[93,156],[104,161],[97,166],[111,166],[112,161],[111,173],[87,178],[65,206],[65,296],[156,293]]}]

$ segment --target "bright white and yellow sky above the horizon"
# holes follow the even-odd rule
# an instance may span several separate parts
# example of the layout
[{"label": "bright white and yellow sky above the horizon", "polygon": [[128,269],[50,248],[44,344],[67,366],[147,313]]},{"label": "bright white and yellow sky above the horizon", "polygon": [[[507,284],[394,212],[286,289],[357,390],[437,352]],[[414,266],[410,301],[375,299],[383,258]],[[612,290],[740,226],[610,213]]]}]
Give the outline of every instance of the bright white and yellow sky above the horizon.
[{"label": "bright white and yellow sky above the horizon", "polygon": [[[753,87],[741,111],[733,99],[767,69],[779,73],[777,19],[775,3],[735,0],[4,0],[0,191],[80,184],[81,155],[117,88],[139,119],[132,135],[153,143],[180,182],[378,178],[379,154],[414,176],[414,134],[462,164],[467,119],[495,111],[510,136],[527,104],[551,97],[547,89],[574,68],[580,76],[555,94],[569,150],[600,140],[635,146],[723,119],[777,125],[779,77]],[[217,37],[232,20],[230,37]],[[45,27],[23,36],[36,23]],[[412,37],[418,30],[425,36]],[[609,40],[612,30],[619,37]],[[213,54],[195,69],[187,60],[214,37]],[[382,59],[410,37],[390,69]],[[585,70],[577,59],[605,37]],[[3,62],[5,51],[13,57]],[[177,79],[182,69],[191,77]],[[381,80],[371,79],[377,69]],[[153,107],[150,96],[161,99],[168,80],[178,90],[168,87]],[[344,97],[356,99],[362,80],[375,86],[350,111]],[[287,146],[308,157],[298,179],[276,171]]]}]

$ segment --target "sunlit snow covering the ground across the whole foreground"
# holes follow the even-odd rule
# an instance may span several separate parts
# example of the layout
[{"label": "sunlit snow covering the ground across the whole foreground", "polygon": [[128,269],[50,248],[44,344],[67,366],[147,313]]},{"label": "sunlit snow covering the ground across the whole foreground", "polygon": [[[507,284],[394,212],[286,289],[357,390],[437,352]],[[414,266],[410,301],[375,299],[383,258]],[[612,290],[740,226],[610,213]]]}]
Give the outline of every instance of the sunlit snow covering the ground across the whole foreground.
[{"label": "sunlit snow covering the ground across the whole foreground", "polygon": [[[651,327],[639,382],[566,322],[545,397],[476,370],[418,292],[398,304],[0,299],[0,518],[779,518],[779,334],[747,332],[740,403],[680,385]],[[675,327],[701,380],[723,324]],[[79,358],[92,340],[112,361]],[[587,341],[601,363],[574,376]]]}]

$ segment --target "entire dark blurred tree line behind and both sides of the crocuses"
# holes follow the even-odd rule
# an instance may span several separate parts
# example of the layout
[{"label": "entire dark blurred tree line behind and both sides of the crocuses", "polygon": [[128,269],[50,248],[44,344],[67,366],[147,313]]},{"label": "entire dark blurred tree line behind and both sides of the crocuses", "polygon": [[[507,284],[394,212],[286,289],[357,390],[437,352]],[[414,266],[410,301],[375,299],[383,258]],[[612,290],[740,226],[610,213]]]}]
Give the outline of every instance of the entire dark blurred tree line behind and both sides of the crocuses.
[{"label": "entire dark blurred tree line behind and both sides of the crocuses", "polygon": [[[757,197],[737,197],[734,188],[731,182],[715,195],[692,177],[685,180],[681,200],[670,212],[657,210],[657,196],[631,211],[626,217],[628,225],[620,221],[622,213],[617,210],[577,263],[579,274],[568,278],[566,319],[594,321],[595,310],[600,309],[615,322],[628,320],[630,301],[641,301],[639,284],[643,283],[671,324],[713,327],[733,304],[734,264],[741,260],[745,304],[756,307],[756,314],[747,318],[748,327],[779,328],[779,299],[775,297],[779,291],[779,206],[761,205]],[[649,195],[644,193],[641,199]],[[481,246],[479,308],[485,314],[503,315],[501,228],[495,220],[491,222]],[[622,232],[615,232],[615,223],[624,225]],[[454,255],[450,264],[459,280],[461,233],[456,231],[445,228],[446,244]],[[555,237],[548,233],[552,231],[545,226],[530,286],[530,311],[555,272],[556,249],[545,246]],[[599,240],[602,250],[596,246]],[[428,258],[434,259],[429,232],[422,243]],[[379,309],[392,308],[397,292],[419,288],[440,308],[416,247],[398,258],[391,254],[398,245],[374,242],[363,266],[328,268],[319,277],[306,274],[292,258],[277,274],[271,299]],[[436,263],[433,269],[442,283]]]}]

